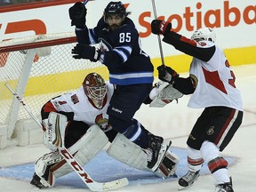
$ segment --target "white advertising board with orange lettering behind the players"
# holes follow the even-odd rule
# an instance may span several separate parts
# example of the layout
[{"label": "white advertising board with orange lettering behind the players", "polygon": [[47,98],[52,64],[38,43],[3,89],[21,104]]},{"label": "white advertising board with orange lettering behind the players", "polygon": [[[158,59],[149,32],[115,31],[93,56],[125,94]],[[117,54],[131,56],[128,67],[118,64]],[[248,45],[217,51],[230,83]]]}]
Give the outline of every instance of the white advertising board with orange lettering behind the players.
[{"label": "white advertising board with orange lettering behind the players", "polygon": [[[156,36],[151,35],[150,29],[150,22],[155,19],[151,0],[123,0],[122,2],[127,7],[127,11],[132,12],[129,17],[140,31],[142,43],[144,41],[146,44],[144,47],[149,53],[155,52]],[[241,46],[249,43],[256,44],[256,40],[249,39],[249,36],[256,34],[255,0],[190,0],[186,1],[186,4],[184,1],[173,3],[170,0],[155,0],[155,3],[158,18],[172,22],[172,29],[176,32],[184,34],[196,28],[211,27],[217,28],[218,36],[225,40],[225,42],[220,41],[222,47],[227,47],[226,44],[230,44],[228,42],[234,41],[230,33],[232,38],[236,39],[236,44],[232,46],[239,46],[240,43]],[[86,5],[86,24],[89,28],[95,27],[107,4],[106,0],[97,0],[90,1]],[[68,17],[68,8],[72,5],[73,3],[69,2],[69,4],[54,4],[17,12],[0,10],[0,41],[22,36],[74,31]],[[241,34],[246,33],[250,34],[241,39]]]}]

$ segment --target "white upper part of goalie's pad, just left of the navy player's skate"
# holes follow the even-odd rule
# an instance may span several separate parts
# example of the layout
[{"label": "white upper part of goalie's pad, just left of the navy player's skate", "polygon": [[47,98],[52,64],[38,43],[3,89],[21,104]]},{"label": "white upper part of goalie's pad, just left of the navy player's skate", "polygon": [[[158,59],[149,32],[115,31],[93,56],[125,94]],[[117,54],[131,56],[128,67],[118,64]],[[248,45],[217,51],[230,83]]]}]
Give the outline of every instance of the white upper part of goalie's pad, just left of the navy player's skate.
[{"label": "white upper part of goalie's pad, just left of the navy player's skate", "polygon": [[150,171],[147,167],[148,156],[138,145],[117,133],[115,140],[107,150],[108,156],[142,171]]}]

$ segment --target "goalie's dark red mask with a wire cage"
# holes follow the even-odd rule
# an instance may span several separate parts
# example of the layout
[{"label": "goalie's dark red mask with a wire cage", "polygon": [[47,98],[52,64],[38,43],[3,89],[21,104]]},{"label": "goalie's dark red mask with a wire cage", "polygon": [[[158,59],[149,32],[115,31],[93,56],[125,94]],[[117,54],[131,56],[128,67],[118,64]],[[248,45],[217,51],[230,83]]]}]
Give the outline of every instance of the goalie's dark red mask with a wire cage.
[{"label": "goalie's dark red mask with a wire cage", "polygon": [[102,108],[107,93],[105,80],[97,73],[90,73],[84,78],[84,92],[96,108]]}]

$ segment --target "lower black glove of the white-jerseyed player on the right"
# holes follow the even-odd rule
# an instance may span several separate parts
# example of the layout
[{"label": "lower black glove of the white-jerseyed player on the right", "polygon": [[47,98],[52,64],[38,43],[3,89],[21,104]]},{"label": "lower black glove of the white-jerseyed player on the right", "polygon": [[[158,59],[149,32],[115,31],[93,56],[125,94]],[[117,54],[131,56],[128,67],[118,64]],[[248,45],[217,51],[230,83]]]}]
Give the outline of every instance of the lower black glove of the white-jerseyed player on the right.
[{"label": "lower black glove of the white-jerseyed player on the right", "polygon": [[159,66],[158,70],[158,78],[164,82],[168,82],[169,84],[173,84],[175,79],[179,77],[179,74],[175,70],[167,66]]}]

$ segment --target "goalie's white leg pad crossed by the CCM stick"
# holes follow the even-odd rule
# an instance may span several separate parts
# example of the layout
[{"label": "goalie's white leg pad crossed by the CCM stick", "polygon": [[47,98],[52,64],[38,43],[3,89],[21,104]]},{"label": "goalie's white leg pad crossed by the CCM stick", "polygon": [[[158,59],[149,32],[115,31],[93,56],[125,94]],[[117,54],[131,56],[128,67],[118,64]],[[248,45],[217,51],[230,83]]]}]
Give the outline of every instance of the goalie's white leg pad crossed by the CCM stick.
[{"label": "goalie's white leg pad crossed by the CCM stick", "polygon": [[[68,148],[71,154],[76,154],[74,157],[77,162],[84,166],[94,156],[96,156],[102,148],[108,143],[108,137],[101,131],[100,127],[93,124],[84,136],[78,140],[73,146]],[[44,187],[52,187],[55,180],[63,175],[73,172],[73,169],[63,159],[59,151],[46,154],[40,157],[35,165],[36,176],[33,180],[38,180]]]}]

